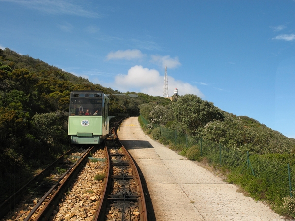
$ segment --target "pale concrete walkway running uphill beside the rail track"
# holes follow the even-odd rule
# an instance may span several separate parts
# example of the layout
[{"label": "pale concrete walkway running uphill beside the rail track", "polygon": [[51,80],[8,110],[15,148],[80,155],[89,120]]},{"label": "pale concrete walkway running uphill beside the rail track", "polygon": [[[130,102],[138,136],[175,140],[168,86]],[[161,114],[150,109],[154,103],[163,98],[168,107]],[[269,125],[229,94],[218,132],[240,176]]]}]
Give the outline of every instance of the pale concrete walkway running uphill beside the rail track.
[{"label": "pale concrete walkway running uphill beside the rail track", "polygon": [[236,186],[149,138],[137,117],[123,122],[118,137],[145,177],[157,221],[283,221]]}]

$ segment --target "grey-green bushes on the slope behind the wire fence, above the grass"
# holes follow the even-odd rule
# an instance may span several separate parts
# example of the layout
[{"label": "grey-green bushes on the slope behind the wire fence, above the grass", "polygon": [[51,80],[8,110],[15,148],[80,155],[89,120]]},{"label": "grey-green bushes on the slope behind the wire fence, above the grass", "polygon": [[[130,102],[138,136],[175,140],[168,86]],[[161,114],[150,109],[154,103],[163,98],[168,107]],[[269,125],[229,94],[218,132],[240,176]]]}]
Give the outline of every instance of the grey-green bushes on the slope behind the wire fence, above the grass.
[{"label": "grey-green bushes on the slope behind the wire fence, above the grass", "polygon": [[229,148],[248,150],[250,154],[282,154],[295,149],[294,139],[253,118],[222,111],[212,102],[192,94],[180,96],[177,102],[166,105],[142,105],[140,113],[150,122],[149,128],[153,124],[166,126]]}]

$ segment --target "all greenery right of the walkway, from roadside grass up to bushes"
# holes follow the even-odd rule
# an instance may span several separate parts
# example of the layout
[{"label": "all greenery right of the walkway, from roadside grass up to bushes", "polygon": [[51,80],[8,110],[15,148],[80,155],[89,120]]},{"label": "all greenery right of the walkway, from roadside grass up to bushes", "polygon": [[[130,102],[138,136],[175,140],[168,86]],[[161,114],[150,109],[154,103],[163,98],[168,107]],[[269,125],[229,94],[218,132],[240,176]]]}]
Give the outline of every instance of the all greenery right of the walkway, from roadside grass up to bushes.
[{"label": "all greenery right of the walkway, from roadside grass up to bushes", "polygon": [[294,139],[191,94],[166,105],[141,105],[140,113],[141,125],[152,138],[190,160],[218,168],[228,182],[241,185],[253,198],[295,216],[288,182],[290,165],[289,180],[295,183]]}]

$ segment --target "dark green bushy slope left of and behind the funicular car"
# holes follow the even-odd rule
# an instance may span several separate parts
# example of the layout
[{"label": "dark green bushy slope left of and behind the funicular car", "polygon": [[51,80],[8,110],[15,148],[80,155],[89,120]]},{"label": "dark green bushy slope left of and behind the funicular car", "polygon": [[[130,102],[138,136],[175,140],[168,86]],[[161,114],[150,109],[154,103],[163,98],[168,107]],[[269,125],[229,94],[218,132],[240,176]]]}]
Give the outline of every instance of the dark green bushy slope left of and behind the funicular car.
[{"label": "dark green bushy slope left of and behind the funicular car", "polygon": [[[0,49],[0,203],[35,170],[69,148],[67,120],[73,90],[109,94],[110,115],[139,115],[138,106],[142,103],[167,102],[143,93],[114,96],[121,93],[29,55]],[[18,181],[14,182],[16,178]]]}]

